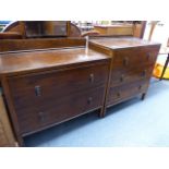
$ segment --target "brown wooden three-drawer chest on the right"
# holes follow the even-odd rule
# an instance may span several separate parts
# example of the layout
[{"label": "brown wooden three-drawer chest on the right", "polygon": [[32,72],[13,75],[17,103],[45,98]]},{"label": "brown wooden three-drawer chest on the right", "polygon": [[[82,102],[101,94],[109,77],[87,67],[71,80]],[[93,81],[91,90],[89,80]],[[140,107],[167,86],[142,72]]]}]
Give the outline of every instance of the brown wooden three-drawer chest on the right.
[{"label": "brown wooden three-drawer chest on the right", "polygon": [[137,95],[144,99],[160,44],[132,37],[90,39],[93,49],[112,57],[105,109]]}]

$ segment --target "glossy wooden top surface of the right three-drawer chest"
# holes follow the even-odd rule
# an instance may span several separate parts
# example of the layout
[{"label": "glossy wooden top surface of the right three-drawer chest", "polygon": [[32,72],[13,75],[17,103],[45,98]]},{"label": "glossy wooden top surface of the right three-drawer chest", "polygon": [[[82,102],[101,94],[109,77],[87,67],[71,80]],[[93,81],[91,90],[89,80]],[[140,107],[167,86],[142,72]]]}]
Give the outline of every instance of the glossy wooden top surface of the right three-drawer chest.
[{"label": "glossy wooden top surface of the right three-drawer chest", "polygon": [[90,43],[104,46],[109,49],[132,48],[138,46],[160,45],[158,43],[152,43],[135,37],[117,37],[117,38],[95,38],[89,39]]}]

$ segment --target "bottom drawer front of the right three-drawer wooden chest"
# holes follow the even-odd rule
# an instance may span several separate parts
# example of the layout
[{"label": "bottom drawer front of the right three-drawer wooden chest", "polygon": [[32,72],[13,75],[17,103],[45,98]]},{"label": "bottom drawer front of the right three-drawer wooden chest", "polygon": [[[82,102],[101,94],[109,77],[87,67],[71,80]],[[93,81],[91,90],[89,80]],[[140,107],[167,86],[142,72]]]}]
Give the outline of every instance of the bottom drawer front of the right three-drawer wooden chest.
[{"label": "bottom drawer front of the right three-drawer wooden chest", "polygon": [[145,93],[148,88],[149,81],[137,81],[129,85],[110,87],[107,105],[114,105],[128,98]]}]

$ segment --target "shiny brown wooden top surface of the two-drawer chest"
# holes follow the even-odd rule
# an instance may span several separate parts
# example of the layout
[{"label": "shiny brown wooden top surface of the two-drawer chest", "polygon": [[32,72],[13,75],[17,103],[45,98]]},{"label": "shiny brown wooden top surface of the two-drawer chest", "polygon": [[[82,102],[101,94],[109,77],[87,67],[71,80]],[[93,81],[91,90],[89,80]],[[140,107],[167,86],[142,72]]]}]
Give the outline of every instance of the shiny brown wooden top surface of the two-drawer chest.
[{"label": "shiny brown wooden top surface of the two-drawer chest", "polygon": [[60,68],[74,63],[105,60],[109,57],[85,48],[44,49],[0,55],[0,76]]}]

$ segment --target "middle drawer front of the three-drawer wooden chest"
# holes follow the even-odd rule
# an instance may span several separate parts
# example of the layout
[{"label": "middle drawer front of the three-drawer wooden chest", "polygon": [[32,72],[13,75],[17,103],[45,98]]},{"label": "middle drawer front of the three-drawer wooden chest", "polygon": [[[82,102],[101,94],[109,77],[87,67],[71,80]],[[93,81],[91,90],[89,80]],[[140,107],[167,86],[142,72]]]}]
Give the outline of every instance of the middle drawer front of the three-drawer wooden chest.
[{"label": "middle drawer front of the three-drawer wooden chest", "polygon": [[124,85],[128,83],[133,83],[140,80],[146,80],[152,76],[154,67],[153,65],[143,65],[138,68],[131,68],[129,70],[113,70],[111,73],[111,87],[118,85]]}]

